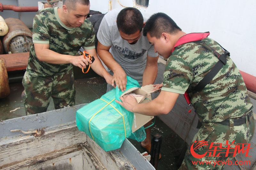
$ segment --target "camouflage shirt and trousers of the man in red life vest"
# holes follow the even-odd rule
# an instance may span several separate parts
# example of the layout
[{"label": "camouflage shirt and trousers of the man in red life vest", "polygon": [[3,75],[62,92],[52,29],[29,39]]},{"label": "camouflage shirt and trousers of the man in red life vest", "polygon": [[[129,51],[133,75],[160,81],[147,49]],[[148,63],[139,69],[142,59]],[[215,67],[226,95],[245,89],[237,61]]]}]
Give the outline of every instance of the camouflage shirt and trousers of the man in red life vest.
[{"label": "camouflage shirt and trousers of the man in red life vest", "polygon": [[[218,53],[224,53],[220,45],[212,39],[205,38],[202,41]],[[195,135],[186,152],[180,169],[221,169],[223,168],[222,165],[200,165],[199,163],[193,165],[192,161],[224,161],[233,158],[231,154],[228,157],[221,154],[221,157],[195,158],[190,153],[190,147],[195,141],[204,140],[210,145],[211,143],[226,144],[226,140],[230,144],[235,140],[234,144],[247,144],[252,139],[254,132],[253,116],[250,118],[250,124],[248,122],[240,126],[233,124],[234,119],[247,115],[253,106],[244,80],[230,57],[227,56],[226,65],[201,92],[192,93],[194,87],[218,61],[219,59],[212,50],[199,42],[177,46],[167,60],[162,90],[180,94],[187,91],[200,122],[203,122],[203,126]],[[227,119],[230,119],[230,126],[216,123]],[[195,152],[202,155],[207,150],[208,148],[203,146]],[[220,149],[218,152],[226,153],[226,151],[226,149]]]}]

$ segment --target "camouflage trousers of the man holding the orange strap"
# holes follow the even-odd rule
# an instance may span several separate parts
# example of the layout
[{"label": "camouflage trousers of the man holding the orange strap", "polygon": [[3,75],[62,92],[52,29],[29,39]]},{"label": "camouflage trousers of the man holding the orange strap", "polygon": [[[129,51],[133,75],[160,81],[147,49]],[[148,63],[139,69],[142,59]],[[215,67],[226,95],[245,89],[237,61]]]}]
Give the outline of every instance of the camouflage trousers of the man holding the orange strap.
[{"label": "camouflage trousers of the man holding the orange strap", "polygon": [[22,85],[25,88],[23,97],[27,114],[46,112],[51,97],[55,109],[75,105],[74,74],[69,72],[49,77],[33,77],[25,72]]}]

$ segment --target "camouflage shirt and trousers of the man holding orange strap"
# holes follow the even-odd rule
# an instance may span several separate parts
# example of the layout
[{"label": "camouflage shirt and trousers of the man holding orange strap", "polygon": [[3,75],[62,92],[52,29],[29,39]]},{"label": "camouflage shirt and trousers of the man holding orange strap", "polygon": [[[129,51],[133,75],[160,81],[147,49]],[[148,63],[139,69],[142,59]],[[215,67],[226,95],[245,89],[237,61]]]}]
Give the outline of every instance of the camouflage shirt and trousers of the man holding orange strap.
[{"label": "camouflage shirt and trousers of the man holding orange strap", "polygon": [[[49,49],[64,55],[78,50],[93,49],[94,30],[87,19],[77,28],[65,26],[58,16],[58,8],[45,8],[36,13],[33,22],[33,43],[49,44]],[[75,105],[72,64],[51,64],[36,57],[32,44],[28,66],[22,80],[25,88],[25,111],[28,114],[45,112],[53,98],[55,109]]]}]

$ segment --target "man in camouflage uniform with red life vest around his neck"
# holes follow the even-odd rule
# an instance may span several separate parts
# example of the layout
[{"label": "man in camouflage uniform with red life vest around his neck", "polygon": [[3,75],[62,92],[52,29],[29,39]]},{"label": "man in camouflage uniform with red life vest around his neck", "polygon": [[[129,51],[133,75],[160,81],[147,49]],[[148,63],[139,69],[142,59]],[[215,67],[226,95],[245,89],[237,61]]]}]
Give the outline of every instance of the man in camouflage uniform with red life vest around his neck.
[{"label": "man in camouflage uniform with red life vest around his neck", "polygon": [[[164,82],[155,85],[155,89],[162,87],[161,92],[149,103],[138,104],[132,96],[121,98],[122,102],[117,101],[134,113],[160,115],[168,114],[172,110],[179,94],[189,92],[191,104],[202,126],[188,147],[180,169],[223,169],[220,162],[220,165],[214,165],[213,162],[200,165],[193,164],[192,161],[231,160],[234,157],[232,153],[235,152],[234,149],[227,151],[216,146],[218,151],[209,157],[210,145],[220,143],[227,148],[226,141],[228,141],[231,147],[239,145],[242,148],[242,144],[250,142],[254,132],[252,103],[243,78],[228,55],[226,65],[221,67],[203,90],[194,91],[196,85],[219,61],[208,46],[219,54],[224,53],[216,41],[207,38],[209,34],[209,32],[186,34],[166,14],[152,15],[146,22],[143,35],[154,44],[155,51],[168,58],[164,70]],[[195,41],[203,41],[207,45]],[[202,141],[208,146],[195,149],[194,141]],[[204,155],[205,153],[207,156]],[[220,157],[217,157],[218,154]],[[203,157],[200,157],[202,155]]]}]

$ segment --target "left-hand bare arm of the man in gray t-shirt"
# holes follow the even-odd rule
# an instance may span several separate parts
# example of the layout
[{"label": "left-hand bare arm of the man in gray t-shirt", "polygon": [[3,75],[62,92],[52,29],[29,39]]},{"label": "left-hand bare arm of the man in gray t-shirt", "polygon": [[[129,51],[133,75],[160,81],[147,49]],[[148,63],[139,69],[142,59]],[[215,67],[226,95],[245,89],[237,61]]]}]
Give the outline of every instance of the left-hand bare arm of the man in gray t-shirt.
[{"label": "left-hand bare arm of the man in gray t-shirt", "polygon": [[103,63],[114,73],[112,85],[116,82],[117,87],[123,92],[126,90],[126,73],[109,52],[110,47],[104,46],[98,41],[97,52]]}]

